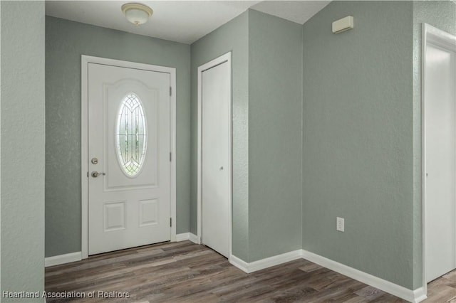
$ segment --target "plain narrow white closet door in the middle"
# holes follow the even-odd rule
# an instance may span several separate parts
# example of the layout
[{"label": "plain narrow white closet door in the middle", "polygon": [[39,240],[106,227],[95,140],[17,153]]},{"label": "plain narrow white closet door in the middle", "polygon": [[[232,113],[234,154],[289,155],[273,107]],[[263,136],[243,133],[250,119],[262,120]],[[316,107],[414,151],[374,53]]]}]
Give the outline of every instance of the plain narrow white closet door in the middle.
[{"label": "plain narrow white closet door in the middle", "polygon": [[200,68],[202,243],[231,254],[230,53]]}]

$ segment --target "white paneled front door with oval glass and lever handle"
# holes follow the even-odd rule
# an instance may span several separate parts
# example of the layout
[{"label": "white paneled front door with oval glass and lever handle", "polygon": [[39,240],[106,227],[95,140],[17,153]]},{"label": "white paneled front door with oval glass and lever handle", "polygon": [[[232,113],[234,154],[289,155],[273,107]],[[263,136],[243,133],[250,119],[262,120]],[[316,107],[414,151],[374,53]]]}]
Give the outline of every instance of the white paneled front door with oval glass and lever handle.
[{"label": "white paneled front door with oval glass and lever handle", "polygon": [[88,254],[170,240],[170,74],[88,63]]}]

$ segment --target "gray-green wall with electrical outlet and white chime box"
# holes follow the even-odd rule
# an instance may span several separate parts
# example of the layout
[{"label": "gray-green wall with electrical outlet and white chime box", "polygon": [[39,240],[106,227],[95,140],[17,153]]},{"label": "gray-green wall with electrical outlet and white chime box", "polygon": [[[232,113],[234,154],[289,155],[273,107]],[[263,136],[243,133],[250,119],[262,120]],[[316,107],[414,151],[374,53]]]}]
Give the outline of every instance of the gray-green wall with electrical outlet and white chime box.
[{"label": "gray-green wall with electrical outlet and white chime box", "polygon": [[333,1],[304,24],[303,248],[408,289],[412,35],[411,1]]}]

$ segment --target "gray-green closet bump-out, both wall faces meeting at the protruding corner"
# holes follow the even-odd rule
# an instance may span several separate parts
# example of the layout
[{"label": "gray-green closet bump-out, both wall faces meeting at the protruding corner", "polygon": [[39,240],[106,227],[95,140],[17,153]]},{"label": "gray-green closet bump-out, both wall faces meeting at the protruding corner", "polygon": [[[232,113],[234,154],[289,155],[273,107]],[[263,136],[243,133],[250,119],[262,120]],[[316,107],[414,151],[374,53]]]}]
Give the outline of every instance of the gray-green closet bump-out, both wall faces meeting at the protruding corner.
[{"label": "gray-green closet bump-out, both wall faces meeting at the protruding corner", "polygon": [[233,255],[301,249],[302,26],[249,10],[192,44],[192,233],[197,68],[232,51]]}]

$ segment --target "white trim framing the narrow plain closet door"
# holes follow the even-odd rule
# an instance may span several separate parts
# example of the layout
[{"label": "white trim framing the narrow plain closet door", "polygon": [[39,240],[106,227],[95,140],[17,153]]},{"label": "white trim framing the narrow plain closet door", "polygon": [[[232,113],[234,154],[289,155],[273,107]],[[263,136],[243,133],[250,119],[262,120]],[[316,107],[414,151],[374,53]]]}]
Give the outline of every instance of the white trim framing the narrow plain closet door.
[{"label": "white trim framing the narrow plain closet door", "polygon": [[[208,70],[209,68],[214,68],[217,65],[227,62],[229,64],[229,100],[232,100],[232,63],[231,63],[231,52],[221,55],[214,60],[205,63],[198,68],[198,142],[197,142],[197,243],[201,243],[201,236],[202,236],[202,199],[201,199],[201,186],[202,186],[202,73],[204,70]],[[229,203],[230,203],[230,211],[229,211],[229,258],[231,260],[232,257],[232,213],[233,213],[233,199],[232,199],[232,191],[233,191],[233,166],[232,166],[232,102],[229,102],[229,149],[230,149],[230,156],[229,156]]]}]

